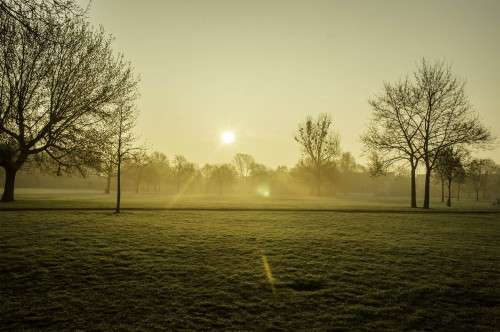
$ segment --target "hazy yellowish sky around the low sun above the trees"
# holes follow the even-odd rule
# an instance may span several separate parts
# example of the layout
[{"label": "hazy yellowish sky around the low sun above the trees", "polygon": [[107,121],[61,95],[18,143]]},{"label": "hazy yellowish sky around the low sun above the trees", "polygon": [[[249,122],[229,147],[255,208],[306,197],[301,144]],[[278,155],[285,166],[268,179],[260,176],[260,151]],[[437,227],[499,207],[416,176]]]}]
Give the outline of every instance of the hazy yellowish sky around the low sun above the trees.
[{"label": "hazy yellowish sky around the low sun above the trees", "polygon": [[[141,75],[138,130],[169,156],[293,165],[297,123],[327,112],[361,158],[368,98],[422,57],[467,80],[500,136],[498,0],[94,0],[89,16]],[[224,130],[234,145],[221,146]],[[499,148],[482,155],[500,162]]]}]

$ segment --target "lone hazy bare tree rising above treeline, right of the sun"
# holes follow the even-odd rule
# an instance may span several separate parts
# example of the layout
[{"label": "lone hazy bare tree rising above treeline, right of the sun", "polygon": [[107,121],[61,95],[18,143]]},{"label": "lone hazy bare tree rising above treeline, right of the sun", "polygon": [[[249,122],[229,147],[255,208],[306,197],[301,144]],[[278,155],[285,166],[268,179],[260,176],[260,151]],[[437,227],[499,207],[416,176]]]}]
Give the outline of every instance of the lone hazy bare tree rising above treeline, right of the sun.
[{"label": "lone hazy bare tree rising above treeline, right of the sun", "polygon": [[332,126],[333,121],[328,114],[320,114],[315,120],[307,117],[299,124],[295,135],[295,141],[301,145],[307,164],[315,176],[317,195],[321,195],[322,168],[340,152],[340,140]]}]

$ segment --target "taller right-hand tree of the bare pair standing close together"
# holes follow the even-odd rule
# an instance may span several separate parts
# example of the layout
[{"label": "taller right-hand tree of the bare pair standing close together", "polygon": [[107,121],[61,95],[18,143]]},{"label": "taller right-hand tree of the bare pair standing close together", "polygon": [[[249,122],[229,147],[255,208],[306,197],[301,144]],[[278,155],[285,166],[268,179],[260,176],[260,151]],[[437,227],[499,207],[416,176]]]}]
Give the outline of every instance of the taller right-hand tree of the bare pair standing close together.
[{"label": "taller right-hand tree of the bare pair standing close together", "polygon": [[440,154],[457,145],[486,144],[492,138],[472,112],[465,83],[453,75],[449,65],[422,60],[415,73],[415,88],[420,96],[418,140],[426,170],[424,208],[428,209],[431,173]]}]

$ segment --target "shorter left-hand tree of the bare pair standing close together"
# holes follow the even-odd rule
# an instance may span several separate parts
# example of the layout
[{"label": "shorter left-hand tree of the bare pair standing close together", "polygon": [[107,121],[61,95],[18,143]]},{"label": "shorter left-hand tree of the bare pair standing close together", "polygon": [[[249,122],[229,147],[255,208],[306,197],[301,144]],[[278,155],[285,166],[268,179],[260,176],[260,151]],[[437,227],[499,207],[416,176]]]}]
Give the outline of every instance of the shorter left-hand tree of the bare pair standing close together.
[{"label": "shorter left-hand tree of the bare pair standing close together", "polygon": [[422,121],[415,107],[419,96],[408,79],[386,83],[384,91],[369,101],[373,118],[362,136],[373,157],[371,168],[380,174],[384,168],[405,161],[410,165],[410,206],[417,207],[416,171],[421,158],[417,139]]}]

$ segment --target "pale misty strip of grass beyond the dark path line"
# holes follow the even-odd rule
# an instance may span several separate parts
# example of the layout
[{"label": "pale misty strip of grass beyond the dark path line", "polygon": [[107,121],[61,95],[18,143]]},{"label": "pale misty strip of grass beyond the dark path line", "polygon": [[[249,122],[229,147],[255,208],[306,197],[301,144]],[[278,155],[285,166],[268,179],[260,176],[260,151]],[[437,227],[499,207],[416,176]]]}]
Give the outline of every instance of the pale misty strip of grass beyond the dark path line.
[{"label": "pale misty strip of grass beyond the dark path line", "polygon": [[[0,204],[2,209],[112,209],[114,193],[100,191],[25,189],[16,191],[16,201]],[[419,202],[422,206],[422,202]],[[310,196],[218,196],[218,195],[165,195],[156,193],[124,192],[122,207],[127,209],[293,209],[293,210],[412,210],[408,197],[373,195],[338,195],[335,197]],[[496,210],[492,200],[476,202],[472,199],[454,201],[450,209],[439,200],[432,208],[443,211]]]}]

